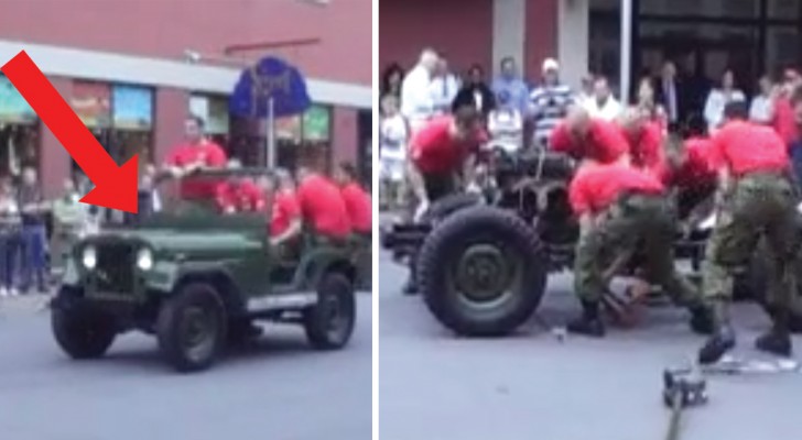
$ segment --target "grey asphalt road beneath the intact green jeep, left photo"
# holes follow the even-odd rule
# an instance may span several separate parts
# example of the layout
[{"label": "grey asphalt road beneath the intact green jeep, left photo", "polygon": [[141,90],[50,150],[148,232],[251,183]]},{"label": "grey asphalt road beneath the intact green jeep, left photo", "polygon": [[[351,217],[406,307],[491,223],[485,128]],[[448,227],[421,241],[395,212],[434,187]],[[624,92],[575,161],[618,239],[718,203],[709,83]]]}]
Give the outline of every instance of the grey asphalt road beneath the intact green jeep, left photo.
[{"label": "grey asphalt road beneath the intact green jeep, left photo", "polygon": [[[0,310],[0,439],[368,440],[371,307],[359,294],[351,343],[315,352],[302,330],[269,326],[213,370],[178,375],[155,341],[126,336],[107,359],[75,362],[46,312]],[[2,307],[2,305],[0,305]]]}]

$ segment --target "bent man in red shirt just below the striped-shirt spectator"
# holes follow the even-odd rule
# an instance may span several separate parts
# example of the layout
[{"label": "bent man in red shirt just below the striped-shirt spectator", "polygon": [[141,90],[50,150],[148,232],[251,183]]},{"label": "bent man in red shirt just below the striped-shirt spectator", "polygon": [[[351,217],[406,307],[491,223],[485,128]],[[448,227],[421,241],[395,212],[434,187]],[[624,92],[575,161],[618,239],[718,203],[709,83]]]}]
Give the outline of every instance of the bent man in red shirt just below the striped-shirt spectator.
[{"label": "bent man in red shirt just below the striped-shirt spectator", "polygon": [[613,163],[626,160],[629,144],[611,122],[590,118],[587,110],[573,107],[568,116],[552,131],[551,148],[577,161]]}]

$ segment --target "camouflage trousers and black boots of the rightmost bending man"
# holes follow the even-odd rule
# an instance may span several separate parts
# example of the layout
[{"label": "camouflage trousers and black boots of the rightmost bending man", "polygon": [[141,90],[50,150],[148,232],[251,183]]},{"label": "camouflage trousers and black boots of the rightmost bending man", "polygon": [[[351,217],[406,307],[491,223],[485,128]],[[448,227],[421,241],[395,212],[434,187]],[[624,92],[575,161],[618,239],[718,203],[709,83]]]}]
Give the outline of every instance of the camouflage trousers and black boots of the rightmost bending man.
[{"label": "camouflage trousers and black boots of the rightmost bending man", "polygon": [[[716,306],[718,337],[700,351],[700,361],[712,363],[735,345],[727,304],[733,295],[735,272],[748,264],[761,237],[771,258],[769,285],[774,328],[758,338],[763,351],[790,354],[788,310],[791,307],[793,274],[788,271],[799,246],[795,227],[795,191],[780,173],[750,174],[736,180],[722,202],[716,229],[707,243],[703,266],[703,292]],[[704,362],[706,361],[706,362]]]}]

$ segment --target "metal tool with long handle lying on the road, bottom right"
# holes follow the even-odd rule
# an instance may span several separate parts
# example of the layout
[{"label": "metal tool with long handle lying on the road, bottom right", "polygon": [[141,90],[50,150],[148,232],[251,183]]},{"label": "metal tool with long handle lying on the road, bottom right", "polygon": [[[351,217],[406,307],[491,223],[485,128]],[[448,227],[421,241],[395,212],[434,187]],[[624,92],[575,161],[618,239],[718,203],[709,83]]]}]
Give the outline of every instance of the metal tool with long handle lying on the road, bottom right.
[{"label": "metal tool with long handle lying on the road, bottom right", "polygon": [[671,409],[666,440],[680,436],[680,421],[685,408],[707,403],[707,382],[695,369],[665,370],[663,372],[663,403]]}]

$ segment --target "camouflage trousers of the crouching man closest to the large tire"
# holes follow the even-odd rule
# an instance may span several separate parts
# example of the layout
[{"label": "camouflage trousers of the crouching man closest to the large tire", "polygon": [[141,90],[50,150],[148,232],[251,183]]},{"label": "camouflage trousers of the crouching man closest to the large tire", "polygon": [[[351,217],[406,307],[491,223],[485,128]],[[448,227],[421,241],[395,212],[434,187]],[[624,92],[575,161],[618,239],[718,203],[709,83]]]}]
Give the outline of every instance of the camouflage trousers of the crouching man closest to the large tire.
[{"label": "camouflage trousers of the crouching man closest to the large tire", "polygon": [[582,231],[574,261],[574,288],[581,299],[598,301],[607,290],[610,265],[636,253],[647,280],[661,286],[679,305],[701,304],[700,292],[674,267],[676,213],[663,196],[625,195],[589,230]]}]

